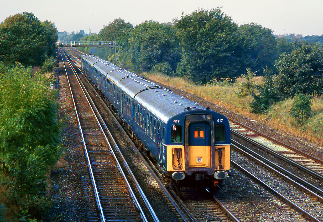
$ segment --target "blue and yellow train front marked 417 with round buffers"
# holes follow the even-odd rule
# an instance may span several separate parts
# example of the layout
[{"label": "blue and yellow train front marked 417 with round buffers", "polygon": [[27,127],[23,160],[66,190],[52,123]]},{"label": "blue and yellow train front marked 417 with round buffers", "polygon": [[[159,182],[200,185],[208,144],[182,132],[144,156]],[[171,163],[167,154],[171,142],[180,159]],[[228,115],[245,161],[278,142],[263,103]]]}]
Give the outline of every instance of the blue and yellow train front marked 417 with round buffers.
[{"label": "blue and yellow train front marked 417 with round buffers", "polygon": [[167,171],[174,180],[216,186],[228,176],[230,130],[226,117],[187,115],[183,125],[171,127],[173,146],[167,146]]}]

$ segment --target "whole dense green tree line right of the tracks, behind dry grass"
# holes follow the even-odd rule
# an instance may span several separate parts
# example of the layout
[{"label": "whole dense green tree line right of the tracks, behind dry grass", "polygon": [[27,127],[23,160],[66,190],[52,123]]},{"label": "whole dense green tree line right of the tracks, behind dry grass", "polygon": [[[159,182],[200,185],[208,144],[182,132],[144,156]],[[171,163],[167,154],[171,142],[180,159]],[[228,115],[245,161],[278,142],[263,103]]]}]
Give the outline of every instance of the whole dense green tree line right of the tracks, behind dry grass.
[{"label": "whole dense green tree line right of the tracks, behind dry grass", "polygon": [[[238,26],[216,8],[182,14],[167,24],[146,21],[133,26],[118,18],[84,40],[116,41],[117,63],[140,72],[182,76],[199,84],[250,78],[238,94],[253,95],[251,111],[262,113],[299,93],[323,93],[322,45],[316,43],[321,36],[314,37],[275,36],[255,23]],[[114,62],[112,50],[88,52]],[[264,76],[264,84],[250,85],[250,74]],[[243,88],[249,86],[252,90]],[[255,88],[257,95],[251,93]]]}]

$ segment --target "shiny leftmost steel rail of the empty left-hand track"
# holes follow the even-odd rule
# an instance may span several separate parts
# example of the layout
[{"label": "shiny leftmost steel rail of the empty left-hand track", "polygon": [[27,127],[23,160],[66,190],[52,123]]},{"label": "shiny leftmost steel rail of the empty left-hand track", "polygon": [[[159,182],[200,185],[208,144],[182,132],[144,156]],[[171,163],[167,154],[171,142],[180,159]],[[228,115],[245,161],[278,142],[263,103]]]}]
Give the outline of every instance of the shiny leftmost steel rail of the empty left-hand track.
[{"label": "shiny leftmost steel rail of the empty left-hand track", "polygon": [[[60,52],[60,54],[61,54],[62,61],[63,61],[62,52]],[[88,150],[86,148],[85,139],[84,139],[84,136],[83,136],[83,130],[82,130],[82,127],[81,127],[80,120],[78,118],[78,111],[77,111],[77,108],[76,108],[76,105],[75,105],[74,96],[73,96],[73,93],[72,93],[72,89],[71,89],[71,85],[70,85],[70,82],[69,82],[69,78],[68,78],[68,74],[67,74],[67,70],[66,70],[66,66],[65,66],[64,61],[63,61],[63,65],[64,65],[64,69],[65,69],[65,72],[66,72],[66,77],[67,77],[67,80],[68,80],[68,87],[69,87],[69,90],[70,90],[70,93],[71,93],[71,99],[72,99],[72,102],[73,102],[74,111],[76,113],[76,118],[77,118],[77,121],[78,121],[78,128],[79,128],[79,131],[80,131],[80,135],[82,137],[82,143],[83,143],[84,150],[85,150],[85,156],[86,156],[86,158],[88,160],[89,172],[90,172],[90,176],[91,176],[91,180],[92,180],[92,184],[93,184],[93,188],[94,188],[95,198],[97,200],[99,212],[100,212],[100,215],[101,215],[101,221],[105,222],[103,208],[102,208],[102,205],[101,205],[101,202],[100,202],[99,192],[98,192],[98,189],[97,189],[97,186],[96,186],[96,183],[95,183],[95,178],[94,178],[92,166],[91,166],[91,163],[90,163]]]}]

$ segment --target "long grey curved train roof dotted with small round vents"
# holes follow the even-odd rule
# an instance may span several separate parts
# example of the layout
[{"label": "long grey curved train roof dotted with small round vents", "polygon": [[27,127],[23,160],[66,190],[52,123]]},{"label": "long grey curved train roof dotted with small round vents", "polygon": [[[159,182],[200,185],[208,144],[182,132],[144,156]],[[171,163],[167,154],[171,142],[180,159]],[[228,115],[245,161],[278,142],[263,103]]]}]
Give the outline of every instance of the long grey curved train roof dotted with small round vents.
[{"label": "long grey curved train roof dotted with small round vents", "polygon": [[[173,116],[188,112],[187,107],[190,107],[190,110],[204,110],[206,113],[214,112],[97,56],[86,54],[82,59],[165,123]],[[218,115],[223,116],[219,113]]]}]

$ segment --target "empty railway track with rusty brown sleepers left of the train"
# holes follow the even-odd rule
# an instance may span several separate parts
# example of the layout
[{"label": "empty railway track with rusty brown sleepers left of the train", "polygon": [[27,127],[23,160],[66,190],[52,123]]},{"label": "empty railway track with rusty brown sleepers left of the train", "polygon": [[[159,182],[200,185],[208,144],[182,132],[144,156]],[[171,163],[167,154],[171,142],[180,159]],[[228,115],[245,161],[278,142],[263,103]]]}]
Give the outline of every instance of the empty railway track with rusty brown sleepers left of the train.
[{"label": "empty railway track with rusty brown sleepers left of the train", "polygon": [[100,215],[98,219],[100,221],[147,221],[85,93],[79,86],[78,79],[74,75],[75,70],[64,52],[61,52],[61,56],[88,160],[97,211]]}]

